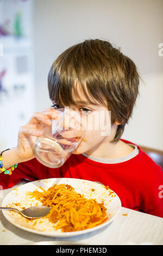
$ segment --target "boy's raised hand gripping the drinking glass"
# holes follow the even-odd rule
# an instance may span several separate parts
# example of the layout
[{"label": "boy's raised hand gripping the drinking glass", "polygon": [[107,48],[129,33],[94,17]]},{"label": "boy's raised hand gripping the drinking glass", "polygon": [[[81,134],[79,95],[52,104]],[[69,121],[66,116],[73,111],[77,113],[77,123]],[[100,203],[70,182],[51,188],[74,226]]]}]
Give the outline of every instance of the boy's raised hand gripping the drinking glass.
[{"label": "boy's raised hand gripping the drinking glass", "polygon": [[57,119],[57,110],[48,108],[35,112],[25,126],[18,131],[17,157],[20,162],[33,159],[33,147],[37,138],[43,135],[43,129],[52,130],[52,119]]}]

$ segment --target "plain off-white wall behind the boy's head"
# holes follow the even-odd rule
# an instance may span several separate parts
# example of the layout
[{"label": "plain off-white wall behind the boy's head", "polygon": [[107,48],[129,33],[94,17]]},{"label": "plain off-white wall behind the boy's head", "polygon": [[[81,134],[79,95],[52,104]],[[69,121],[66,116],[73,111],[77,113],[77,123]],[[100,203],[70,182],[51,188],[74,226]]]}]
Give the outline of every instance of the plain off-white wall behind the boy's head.
[{"label": "plain off-white wall behind the boy's head", "polygon": [[47,74],[57,56],[85,39],[106,39],[135,62],[140,84],[133,117],[122,138],[163,150],[162,0],[35,0],[36,111],[51,105]]}]

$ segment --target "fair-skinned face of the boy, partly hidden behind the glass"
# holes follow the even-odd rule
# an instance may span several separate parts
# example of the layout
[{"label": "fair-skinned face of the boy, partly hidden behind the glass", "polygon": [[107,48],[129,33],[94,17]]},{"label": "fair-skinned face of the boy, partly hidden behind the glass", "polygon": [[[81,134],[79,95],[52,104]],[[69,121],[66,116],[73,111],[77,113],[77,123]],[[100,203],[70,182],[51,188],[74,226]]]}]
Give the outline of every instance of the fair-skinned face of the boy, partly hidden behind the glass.
[{"label": "fair-skinned face of the boy, partly hidden behind the glass", "polygon": [[99,146],[102,148],[103,144],[114,139],[117,126],[116,124],[111,126],[111,111],[108,111],[106,106],[87,103],[86,98],[82,97],[81,93],[75,106],[65,107],[68,108],[70,116],[76,112],[85,127],[84,138],[73,151],[73,154],[91,154]]}]

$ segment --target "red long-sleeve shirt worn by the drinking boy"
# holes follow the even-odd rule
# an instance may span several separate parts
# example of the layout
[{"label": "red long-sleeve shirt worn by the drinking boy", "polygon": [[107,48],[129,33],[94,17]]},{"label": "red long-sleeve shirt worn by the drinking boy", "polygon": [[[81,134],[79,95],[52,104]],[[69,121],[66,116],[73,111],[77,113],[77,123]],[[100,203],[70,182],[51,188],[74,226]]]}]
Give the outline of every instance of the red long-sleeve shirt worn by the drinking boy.
[{"label": "red long-sleeve shirt worn by the drinking boy", "polygon": [[[126,143],[134,144],[127,140]],[[163,217],[163,171],[141,150],[130,160],[116,164],[95,162],[82,154],[71,154],[60,168],[48,168],[36,158],[19,163],[12,175],[0,174],[5,189],[23,179],[82,178],[109,186],[120,197],[122,206]]]}]

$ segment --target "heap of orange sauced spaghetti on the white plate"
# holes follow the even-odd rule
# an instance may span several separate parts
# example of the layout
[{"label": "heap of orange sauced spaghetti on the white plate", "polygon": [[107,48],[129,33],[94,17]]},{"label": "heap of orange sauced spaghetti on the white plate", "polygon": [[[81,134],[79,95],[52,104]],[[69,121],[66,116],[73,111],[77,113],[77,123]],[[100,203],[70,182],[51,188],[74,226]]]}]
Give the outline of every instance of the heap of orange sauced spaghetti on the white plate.
[{"label": "heap of orange sauced spaghetti on the white plate", "polygon": [[55,223],[55,230],[71,232],[89,229],[108,219],[104,203],[99,204],[95,199],[84,198],[68,184],[54,184],[47,191],[41,189],[43,192],[35,190],[30,195],[42,205],[51,207],[46,217],[49,222]]}]

